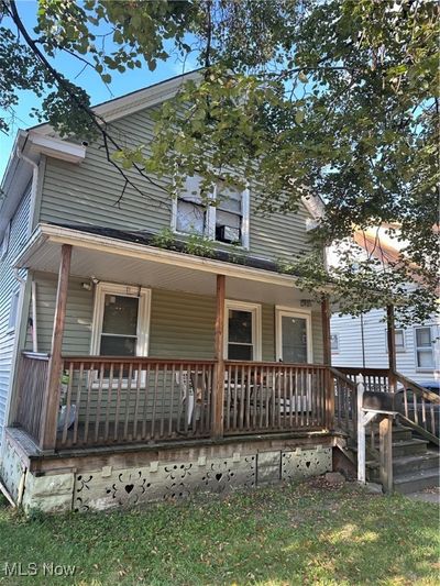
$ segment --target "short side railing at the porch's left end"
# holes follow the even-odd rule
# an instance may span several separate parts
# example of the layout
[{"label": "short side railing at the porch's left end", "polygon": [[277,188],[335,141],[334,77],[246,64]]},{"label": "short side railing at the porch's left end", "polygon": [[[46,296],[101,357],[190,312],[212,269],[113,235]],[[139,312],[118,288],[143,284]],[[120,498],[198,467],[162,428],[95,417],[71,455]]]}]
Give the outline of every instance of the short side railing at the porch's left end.
[{"label": "short side railing at the porch's left end", "polygon": [[47,383],[47,354],[23,352],[18,367],[18,408],[15,423],[36,442],[40,440],[42,408]]}]

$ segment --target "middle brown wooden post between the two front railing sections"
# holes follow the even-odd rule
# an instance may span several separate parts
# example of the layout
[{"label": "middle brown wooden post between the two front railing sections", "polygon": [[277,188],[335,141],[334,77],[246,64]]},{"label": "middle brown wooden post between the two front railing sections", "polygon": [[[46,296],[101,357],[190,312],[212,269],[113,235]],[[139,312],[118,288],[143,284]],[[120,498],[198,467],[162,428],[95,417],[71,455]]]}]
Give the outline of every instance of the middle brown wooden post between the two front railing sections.
[{"label": "middle brown wooden post between the two front railing sections", "polygon": [[217,275],[217,311],[216,311],[216,366],[213,376],[212,398],[212,438],[223,435],[223,405],[224,405],[224,298],[226,276]]}]

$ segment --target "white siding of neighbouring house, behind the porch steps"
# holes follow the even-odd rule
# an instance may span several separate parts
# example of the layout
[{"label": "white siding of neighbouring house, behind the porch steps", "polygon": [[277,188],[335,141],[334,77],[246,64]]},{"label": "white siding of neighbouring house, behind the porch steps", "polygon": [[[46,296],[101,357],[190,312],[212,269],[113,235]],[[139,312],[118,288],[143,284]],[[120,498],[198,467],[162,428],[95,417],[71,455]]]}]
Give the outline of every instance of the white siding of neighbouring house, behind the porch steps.
[{"label": "white siding of neighbouring house, behind the porch steps", "polygon": [[[387,368],[388,351],[386,342],[386,322],[383,321],[385,313],[383,310],[374,310],[363,318],[364,330],[364,353],[366,368]],[[427,323],[428,325],[428,323]],[[435,356],[437,355],[437,371],[424,371],[417,368],[415,330],[408,328],[404,330],[405,350],[396,354],[397,371],[411,378],[416,383],[440,379],[440,329],[433,321],[431,325],[435,344]],[[396,324],[398,328],[398,324]],[[334,366],[359,366],[363,365],[361,318],[350,316],[331,319],[331,333],[338,334],[339,351],[332,352],[332,363]]]}]

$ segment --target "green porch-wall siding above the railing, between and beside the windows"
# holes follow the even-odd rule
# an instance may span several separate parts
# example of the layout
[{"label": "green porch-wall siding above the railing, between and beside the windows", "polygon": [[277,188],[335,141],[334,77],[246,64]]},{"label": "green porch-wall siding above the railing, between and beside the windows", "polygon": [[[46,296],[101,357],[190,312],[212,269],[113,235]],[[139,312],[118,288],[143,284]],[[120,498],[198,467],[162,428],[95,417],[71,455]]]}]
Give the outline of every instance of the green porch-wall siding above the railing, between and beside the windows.
[{"label": "green porch-wall siding above the railing, between and beside the windows", "polygon": [[[35,273],[36,328],[38,351],[51,349],[55,313],[56,275]],[[184,309],[183,309],[184,308]],[[94,292],[81,287],[81,279],[70,278],[67,296],[63,353],[90,354]],[[216,299],[213,297],[152,290],[150,353],[152,357],[213,358]],[[322,332],[319,312],[312,313],[314,362],[322,363]],[[26,349],[32,347],[30,335]],[[275,306],[262,305],[263,361],[275,360]]]}]

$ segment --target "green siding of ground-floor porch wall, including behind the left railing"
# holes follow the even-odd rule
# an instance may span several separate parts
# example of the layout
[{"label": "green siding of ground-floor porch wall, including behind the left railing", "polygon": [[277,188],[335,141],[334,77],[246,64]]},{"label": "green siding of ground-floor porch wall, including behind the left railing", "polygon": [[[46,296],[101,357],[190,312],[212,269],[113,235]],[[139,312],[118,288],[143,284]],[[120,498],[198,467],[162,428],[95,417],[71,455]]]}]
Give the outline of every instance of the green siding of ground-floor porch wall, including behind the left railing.
[{"label": "green siding of ground-floor porch wall, including behind the left railing", "polygon": [[[36,312],[38,351],[50,352],[52,328],[56,299],[56,275],[35,273],[33,279],[36,284]],[[65,355],[88,355],[90,353],[91,323],[94,313],[94,294],[81,286],[81,279],[70,278],[67,297],[66,323],[63,339],[63,353]],[[180,291],[153,289],[150,318],[150,356],[166,358],[202,360],[213,358],[215,355],[215,323],[216,299],[210,296],[184,294]],[[314,361],[322,360],[322,336],[320,314],[312,313]],[[32,347],[29,335],[28,349]],[[275,360],[275,306],[262,305],[262,358],[272,362]],[[67,365],[66,365],[67,367]],[[118,373],[114,373],[118,376]],[[150,375],[148,388],[154,384],[154,369]],[[151,392],[142,391],[136,398],[135,384],[131,391],[123,387],[118,391],[117,386],[109,389],[105,385],[106,413],[110,420],[117,418],[123,422],[125,417],[132,421],[138,402],[140,412],[151,418],[153,410],[156,418],[165,418],[173,411],[174,418],[182,414],[183,387],[178,384],[177,375],[168,369],[166,380],[164,372],[157,374],[158,392],[154,401]],[[86,403],[88,397],[88,378],[84,375],[81,385],[78,385],[78,373],[75,374],[73,388],[75,401],[79,395],[79,418],[86,419]],[[142,384],[141,388],[144,389]],[[90,387],[90,403],[88,419],[90,433],[98,412],[98,383]],[[172,409],[173,406],[173,409]],[[102,412],[101,412],[102,418]]]}]

